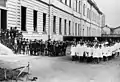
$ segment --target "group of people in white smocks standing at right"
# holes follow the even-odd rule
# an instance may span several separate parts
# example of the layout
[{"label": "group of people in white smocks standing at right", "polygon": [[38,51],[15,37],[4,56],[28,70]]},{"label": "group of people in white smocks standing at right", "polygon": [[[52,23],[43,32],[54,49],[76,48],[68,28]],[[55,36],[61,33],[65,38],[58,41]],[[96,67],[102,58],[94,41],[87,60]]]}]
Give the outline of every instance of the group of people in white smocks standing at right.
[{"label": "group of people in white smocks standing at right", "polygon": [[120,54],[120,41],[79,41],[71,46],[73,61],[100,63],[111,60]]}]

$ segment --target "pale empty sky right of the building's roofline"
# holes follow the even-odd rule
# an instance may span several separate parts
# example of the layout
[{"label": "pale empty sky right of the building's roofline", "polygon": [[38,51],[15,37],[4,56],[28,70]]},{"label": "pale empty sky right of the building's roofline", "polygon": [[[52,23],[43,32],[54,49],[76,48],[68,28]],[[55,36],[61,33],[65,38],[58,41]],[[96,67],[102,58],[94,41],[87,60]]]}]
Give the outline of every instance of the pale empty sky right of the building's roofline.
[{"label": "pale empty sky right of the building's roofline", "polygon": [[106,24],[112,28],[120,26],[120,0],[94,0],[106,16]]}]

